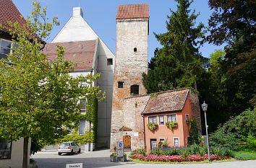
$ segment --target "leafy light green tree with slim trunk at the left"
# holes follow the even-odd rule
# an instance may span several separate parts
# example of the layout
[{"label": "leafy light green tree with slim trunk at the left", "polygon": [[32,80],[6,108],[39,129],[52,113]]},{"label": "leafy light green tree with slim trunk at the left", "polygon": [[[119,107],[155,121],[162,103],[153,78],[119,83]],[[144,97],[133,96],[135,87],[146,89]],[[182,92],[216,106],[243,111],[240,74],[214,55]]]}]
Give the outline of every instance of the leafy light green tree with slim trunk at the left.
[{"label": "leafy light green tree with slim trunk at the left", "polygon": [[[23,164],[27,167],[29,138],[52,143],[79,123],[80,99],[98,97],[98,87],[90,87],[99,75],[69,76],[74,63],[64,60],[64,48],[56,47],[56,60],[40,52],[56,18],[48,23],[46,8],[33,2],[27,25],[10,23],[14,43],[8,60],[0,61],[0,138],[24,138]],[[37,35],[38,36],[37,36]],[[81,85],[86,82],[88,85]]]}]

